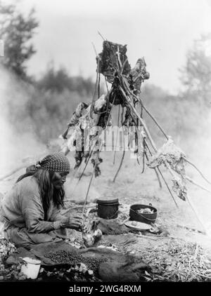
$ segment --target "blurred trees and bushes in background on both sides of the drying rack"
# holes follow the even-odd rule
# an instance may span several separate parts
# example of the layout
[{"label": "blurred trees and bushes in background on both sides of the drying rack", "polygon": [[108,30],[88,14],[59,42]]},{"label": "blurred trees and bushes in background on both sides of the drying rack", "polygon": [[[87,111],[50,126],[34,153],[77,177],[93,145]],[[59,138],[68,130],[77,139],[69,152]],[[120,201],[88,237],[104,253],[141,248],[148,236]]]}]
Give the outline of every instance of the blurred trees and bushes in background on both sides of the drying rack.
[{"label": "blurred trees and bushes in background on both sides of the drying rack", "polygon": [[[39,22],[34,10],[23,15],[13,5],[0,1],[0,36],[5,41],[5,57],[1,64],[11,71],[17,85],[8,100],[9,120],[15,129],[32,128],[41,142],[58,137],[66,127],[79,102],[89,102],[94,93],[91,78],[70,76],[65,67],[55,69],[53,62],[39,79],[27,75],[27,60],[36,49],[32,43]],[[211,56],[205,51],[210,35],[201,36],[186,55],[186,64],[180,69],[182,87],[177,95],[170,95],[148,81],[142,87],[142,98],[151,113],[158,119],[167,134],[178,141],[201,133],[210,112]],[[48,62],[48,61],[46,61]],[[95,72],[95,69],[93,69]],[[18,92],[24,89],[24,104],[17,103]],[[13,96],[13,97],[12,97]],[[21,101],[21,97],[19,97]],[[113,112],[117,116],[117,110]],[[146,116],[154,137],[160,132]],[[30,124],[26,124],[30,123]]]}]

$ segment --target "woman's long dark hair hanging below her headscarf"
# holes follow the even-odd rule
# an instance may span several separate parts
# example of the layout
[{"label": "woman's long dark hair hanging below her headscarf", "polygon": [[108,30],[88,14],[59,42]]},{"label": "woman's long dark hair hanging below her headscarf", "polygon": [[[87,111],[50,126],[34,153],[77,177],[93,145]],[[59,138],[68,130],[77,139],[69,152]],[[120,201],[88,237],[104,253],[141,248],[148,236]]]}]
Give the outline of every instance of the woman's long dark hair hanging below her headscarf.
[{"label": "woman's long dark hair hanging below her headscarf", "polygon": [[53,204],[57,206],[57,208],[60,208],[64,206],[64,196],[65,191],[63,187],[60,189],[56,189],[53,187],[52,177],[54,172],[50,172],[49,170],[35,170],[35,171],[29,171],[25,173],[24,175],[21,175],[17,182],[20,182],[20,180],[23,180],[25,177],[33,176],[35,180],[37,181],[37,184],[39,186],[39,193],[41,195],[41,201],[42,206],[44,208],[44,220],[47,218],[47,212],[49,210],[50,201],[53,199]]}]

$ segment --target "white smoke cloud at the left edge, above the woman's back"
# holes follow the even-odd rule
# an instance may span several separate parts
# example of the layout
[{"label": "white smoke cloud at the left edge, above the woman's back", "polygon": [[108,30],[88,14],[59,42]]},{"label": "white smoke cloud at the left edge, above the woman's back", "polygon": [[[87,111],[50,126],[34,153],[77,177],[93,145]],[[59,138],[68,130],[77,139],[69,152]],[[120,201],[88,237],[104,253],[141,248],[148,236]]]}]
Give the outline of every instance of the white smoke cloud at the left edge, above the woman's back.
[{"label": "white smoke cloud at the left edge, above the woman's back", "polygon": [[37,159],[45,150],[27,114],[30,87],[0,67],[0,176],[27,162],[27,159]]}]

